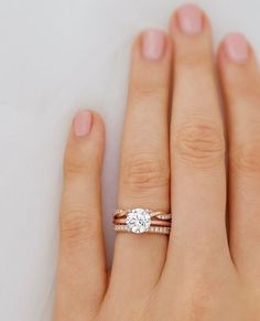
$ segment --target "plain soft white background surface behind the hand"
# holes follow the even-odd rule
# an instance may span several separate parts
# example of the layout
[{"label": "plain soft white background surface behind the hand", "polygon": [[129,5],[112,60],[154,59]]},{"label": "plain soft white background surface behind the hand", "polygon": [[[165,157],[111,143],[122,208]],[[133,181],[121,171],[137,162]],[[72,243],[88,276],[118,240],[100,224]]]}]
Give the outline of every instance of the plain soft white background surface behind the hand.
[{"label": "plain soft white background surface behind the hand", "polygon": [[[129,49],[166,28],[173,0],[0,0],[0,320],[51,320],[62,158],[76,109],[107,124],[104,216],[113,232]],[[258,0],[196,1],[217,44],[245,32],[260,52]]]}]

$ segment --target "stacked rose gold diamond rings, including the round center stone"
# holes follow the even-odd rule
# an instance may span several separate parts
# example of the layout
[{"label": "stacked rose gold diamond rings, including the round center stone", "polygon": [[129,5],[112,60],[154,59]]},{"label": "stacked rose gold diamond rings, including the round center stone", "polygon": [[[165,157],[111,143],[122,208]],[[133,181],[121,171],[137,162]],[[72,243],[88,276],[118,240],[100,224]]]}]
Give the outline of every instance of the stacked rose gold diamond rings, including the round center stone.
[{"label": "stacked rose gold diamond rings, including the round center stone", "polygon": [[172,214],[149,208],[117,210],[113,214],[116,232],[170,234]]}]

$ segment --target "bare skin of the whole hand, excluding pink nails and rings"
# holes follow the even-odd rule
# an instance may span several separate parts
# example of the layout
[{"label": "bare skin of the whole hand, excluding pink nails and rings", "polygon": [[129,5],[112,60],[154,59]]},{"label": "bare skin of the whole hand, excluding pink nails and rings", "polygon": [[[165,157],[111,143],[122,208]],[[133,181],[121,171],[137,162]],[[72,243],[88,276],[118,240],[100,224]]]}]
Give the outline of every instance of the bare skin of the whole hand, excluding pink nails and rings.
[{"label": "bare skin of the whole hand, excluding pink nails and rings", "polygon": [[214,58],[206,14],[202,33],[189,36],[180,31],[176,14],[165,33],[163,58],[142,56],[142,34],[133,44],[118,195],[122,208],[174,213],[172,233],[118,233],[112,268],[106,270],[104,122],[91,111],[85,138],[75,136],[73,124],[64,161],[54,321],[260,320],[254,53],[250,46],[248,60],[238,64],[221,43]]}]

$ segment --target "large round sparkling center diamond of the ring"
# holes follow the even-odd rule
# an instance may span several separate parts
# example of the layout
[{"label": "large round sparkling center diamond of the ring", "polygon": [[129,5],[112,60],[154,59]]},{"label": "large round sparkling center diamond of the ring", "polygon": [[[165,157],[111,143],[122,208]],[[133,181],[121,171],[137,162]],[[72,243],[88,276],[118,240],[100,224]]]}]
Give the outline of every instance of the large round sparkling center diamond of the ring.
[{"label": "large round sparkling center diamond of the ring", "polygon": [[151,224],[151,216],[148,210],[133,208],[127,215],[127,226],[132,233],[148,232]]}]

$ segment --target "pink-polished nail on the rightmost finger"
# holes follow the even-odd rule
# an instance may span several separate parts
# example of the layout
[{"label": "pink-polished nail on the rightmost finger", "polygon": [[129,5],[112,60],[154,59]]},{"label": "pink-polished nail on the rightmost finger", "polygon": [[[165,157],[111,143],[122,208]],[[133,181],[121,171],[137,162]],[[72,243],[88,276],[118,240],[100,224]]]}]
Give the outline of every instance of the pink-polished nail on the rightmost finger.
[{"label": "pink-polished nail on the rightmost finger", "polygon": [[248,41],[240,33],[231,33],[225,39],[228,57],[236,63],[245,63],[249,56]]}]

